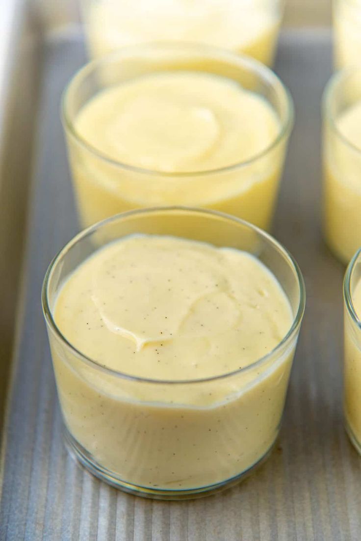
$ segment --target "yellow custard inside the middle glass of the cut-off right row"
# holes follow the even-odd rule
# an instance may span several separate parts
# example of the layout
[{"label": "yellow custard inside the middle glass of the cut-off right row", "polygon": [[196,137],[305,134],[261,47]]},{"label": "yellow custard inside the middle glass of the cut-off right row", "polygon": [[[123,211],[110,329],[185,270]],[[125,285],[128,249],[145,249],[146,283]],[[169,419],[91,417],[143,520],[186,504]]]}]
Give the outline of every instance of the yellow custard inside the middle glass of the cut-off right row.
[{"label": "yellow custard inside the middle glass of the cut-off right row", "polygon": [[361,246],[361,101],[335,124],[324,133],[324,232],[347,263]]}]

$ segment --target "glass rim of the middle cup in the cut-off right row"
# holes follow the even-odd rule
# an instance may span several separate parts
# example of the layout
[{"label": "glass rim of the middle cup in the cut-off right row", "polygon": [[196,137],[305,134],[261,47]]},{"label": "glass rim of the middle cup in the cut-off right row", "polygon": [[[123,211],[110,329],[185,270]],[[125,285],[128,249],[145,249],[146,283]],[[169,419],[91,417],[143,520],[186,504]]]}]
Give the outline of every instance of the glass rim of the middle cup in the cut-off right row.
[{"label": "glass rim of the middle cup in the cut-off right row", "polygon": [[[360,3],[360,6],[361,6],[361,3]],[[344,81],[347,80],[347,77],[351,77],[352,75],[356,74],[358,71],[360,72],[360,76],[361,76],[361,65],[352,65],[351,67],[348,66],[344,69],[336,71],[330,77],[323,92],[322,109],[323,109],[323,116],[325,120],[327,120],[330,123],[332,130],[340,138],[340,140],[346,145],[346,147],[349,147],[354,152],[361,154],[361,147],[358,147],[355,143],[353,143],[348,137],[346,137],[342,133],[342,131],[337,126],[335,116],[331,113],[331,101],[332,101],[333,94],[336,92],[338,88],[338,85],[342,84]]]}]

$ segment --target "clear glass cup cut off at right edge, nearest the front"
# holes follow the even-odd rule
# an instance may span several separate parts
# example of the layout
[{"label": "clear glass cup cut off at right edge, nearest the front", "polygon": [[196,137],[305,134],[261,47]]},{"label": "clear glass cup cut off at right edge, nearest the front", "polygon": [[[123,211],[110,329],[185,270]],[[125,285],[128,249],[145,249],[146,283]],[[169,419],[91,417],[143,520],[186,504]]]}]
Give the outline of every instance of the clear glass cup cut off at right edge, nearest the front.
[{"label": "clear glass cup cut off at right edge, nearest the front", "polygon": [[344,279],[344,415],[347,434],[361,454],[361,313],[354,306],[361,280],[361,249],[347,267]]}]

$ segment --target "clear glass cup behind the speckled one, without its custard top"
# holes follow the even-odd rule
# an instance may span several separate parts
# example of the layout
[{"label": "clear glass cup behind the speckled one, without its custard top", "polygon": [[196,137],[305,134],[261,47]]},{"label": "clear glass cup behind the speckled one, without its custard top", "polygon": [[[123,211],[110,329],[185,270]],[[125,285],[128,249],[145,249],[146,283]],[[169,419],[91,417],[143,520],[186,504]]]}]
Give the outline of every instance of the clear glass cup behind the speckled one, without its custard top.
[{"label": "clear glass cup behind the speckled one, without its custard top", "polygon": [[[152,72],[177,70],[229,77],[262,96],[277,115],[278,135],[250,160],[215,170],[165,173],[111,160],[77,133],[79,110],[99,90]],[[293,105],[279,78],[262,64],[198,45],[126,48],[78,71],[64,93],[62,117],[82,227],[126,210],[179,204],[220,210],[270,228]]]}]

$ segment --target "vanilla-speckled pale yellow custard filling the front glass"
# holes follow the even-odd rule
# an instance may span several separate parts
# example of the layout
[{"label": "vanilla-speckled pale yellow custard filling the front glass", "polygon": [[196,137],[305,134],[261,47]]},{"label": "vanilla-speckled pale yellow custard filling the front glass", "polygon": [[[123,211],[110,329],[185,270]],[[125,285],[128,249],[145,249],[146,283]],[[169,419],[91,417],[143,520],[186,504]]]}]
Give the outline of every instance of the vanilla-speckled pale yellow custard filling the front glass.
[{"label": "vanilla-speckled pale yellow custard filling the front glass", "polygon": [[295,341],[251,365],[293,317],[275,276],[252,255],[131,235],[75,269],[54,319],[98,364],[51,341],[66,426],[113,477],[149,489],[209,486],[248,470],[275,441]]}]

